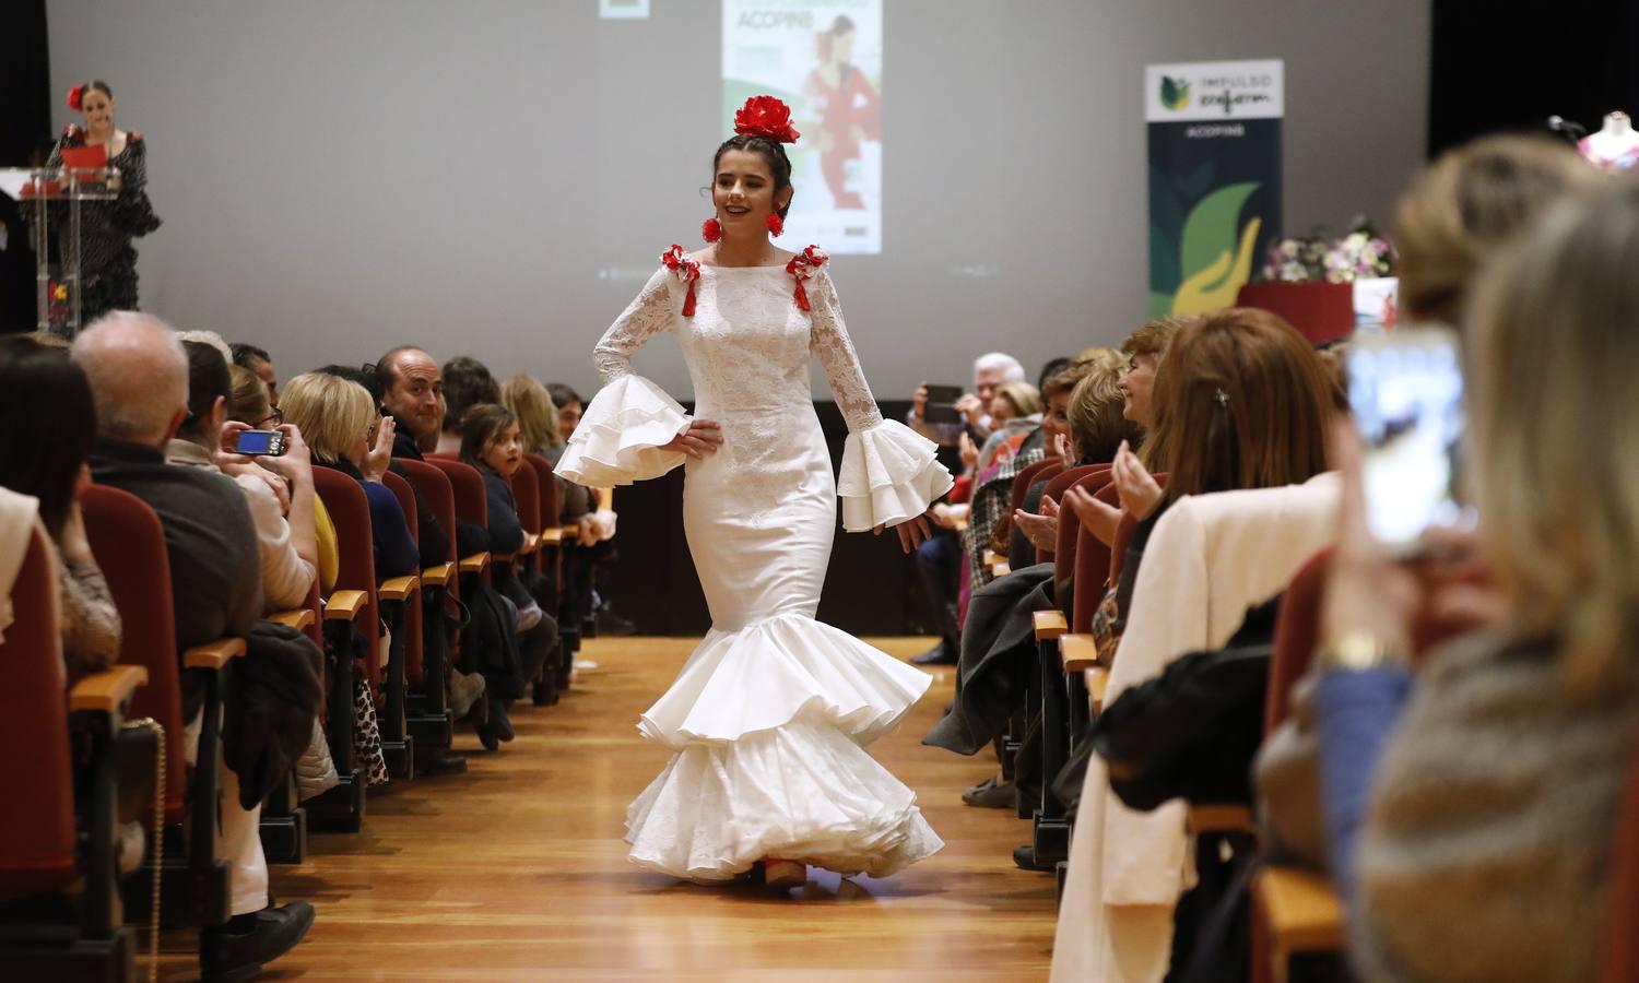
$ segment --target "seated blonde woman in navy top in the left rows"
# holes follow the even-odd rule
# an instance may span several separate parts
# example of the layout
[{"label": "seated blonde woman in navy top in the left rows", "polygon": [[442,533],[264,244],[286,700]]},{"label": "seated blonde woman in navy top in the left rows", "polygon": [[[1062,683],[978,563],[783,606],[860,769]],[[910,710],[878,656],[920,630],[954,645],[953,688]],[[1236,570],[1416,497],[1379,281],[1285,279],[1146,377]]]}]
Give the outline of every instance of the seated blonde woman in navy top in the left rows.
[{"label": "seated blonde woman in navy top in the left rows", "polygon": [[370,501],[375,577],[420,572],[420,552],[403,508],[382,483],[392,459],[393,418],[375,413],[369,390],[328,372],[303,372],[285,383],[280,413],[302,431],[313,464],[351,475]]}]

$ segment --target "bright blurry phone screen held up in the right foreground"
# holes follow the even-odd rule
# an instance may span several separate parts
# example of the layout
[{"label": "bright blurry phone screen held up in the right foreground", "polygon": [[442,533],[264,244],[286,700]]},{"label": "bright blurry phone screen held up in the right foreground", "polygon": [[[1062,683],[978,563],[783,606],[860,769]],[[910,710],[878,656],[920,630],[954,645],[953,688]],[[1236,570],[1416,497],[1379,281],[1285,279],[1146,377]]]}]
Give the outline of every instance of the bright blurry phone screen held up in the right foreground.
[{"label": "bright blurry phone screen held up in the right foreground", "polygon": [[1365,446],[1367,524],[1405,550],[1432,526],[1464,518],[1462,367],[1442,328],[1408,328],[1357,341],[1347,356],[1349,408]]}]

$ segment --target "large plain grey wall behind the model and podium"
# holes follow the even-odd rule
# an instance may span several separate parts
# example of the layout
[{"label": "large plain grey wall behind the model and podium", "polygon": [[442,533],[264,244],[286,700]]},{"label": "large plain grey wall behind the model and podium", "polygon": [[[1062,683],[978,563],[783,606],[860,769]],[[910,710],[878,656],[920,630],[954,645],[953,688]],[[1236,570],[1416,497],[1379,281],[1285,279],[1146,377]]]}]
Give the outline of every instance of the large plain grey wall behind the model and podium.
[{"label": "large plain grey wall behind the model and podium", "polygon": [[[657,254],[697,244],[726,134],[718,5],[652,7],[52,0],[52,85],[108,79],[151,141],[146,308],[284,375],[423,339],[588,385]],[[1142,321],[1146,62],[1285,59],[1288,231],[1387,221],[1421,161],[1429,0],[885,7],[885,249],[834,274],[880,398]],[[638,364],[688,396],[674,342]]]}]

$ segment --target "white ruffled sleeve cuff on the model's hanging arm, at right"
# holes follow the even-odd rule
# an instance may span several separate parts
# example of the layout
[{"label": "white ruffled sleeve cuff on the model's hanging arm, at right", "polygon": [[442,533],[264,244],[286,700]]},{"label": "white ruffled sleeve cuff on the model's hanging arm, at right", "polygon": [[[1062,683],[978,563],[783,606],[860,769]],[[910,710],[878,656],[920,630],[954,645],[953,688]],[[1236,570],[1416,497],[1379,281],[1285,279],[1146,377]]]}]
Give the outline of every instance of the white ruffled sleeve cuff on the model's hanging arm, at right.
[{"label": "white ruffled sleeve cuff on the model's hanging arm, at right", "polygon": [[842,528],[867,532],[928,511],[951,490],[951,472],[938,462],[938,444],[893,419],[847,434],[836,493]]}]

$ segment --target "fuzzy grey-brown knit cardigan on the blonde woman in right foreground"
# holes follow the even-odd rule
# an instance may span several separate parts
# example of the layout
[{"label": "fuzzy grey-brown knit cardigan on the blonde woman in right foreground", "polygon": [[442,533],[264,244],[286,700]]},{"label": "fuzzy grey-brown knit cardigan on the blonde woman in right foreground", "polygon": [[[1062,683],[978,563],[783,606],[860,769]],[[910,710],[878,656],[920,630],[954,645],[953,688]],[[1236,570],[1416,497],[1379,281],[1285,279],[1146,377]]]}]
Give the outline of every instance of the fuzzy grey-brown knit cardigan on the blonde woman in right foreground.
[{"label": "fuzzy grey-brown knit cardigan on the blonde woman in right foreground", "polygon": [[1437,652],[1377,775],[1352,949],[1365,980],[1593,980],[1639,670],[1585,696],[1547,642]]}]

